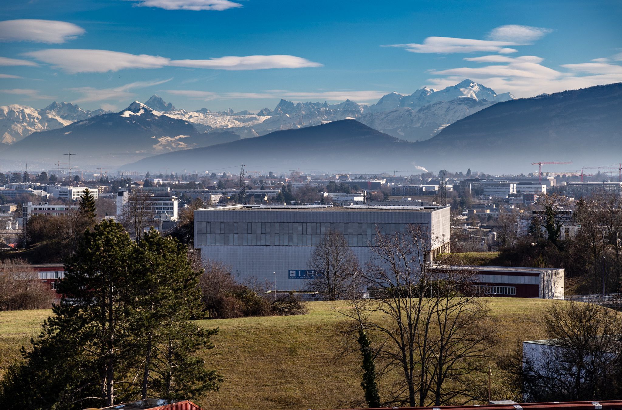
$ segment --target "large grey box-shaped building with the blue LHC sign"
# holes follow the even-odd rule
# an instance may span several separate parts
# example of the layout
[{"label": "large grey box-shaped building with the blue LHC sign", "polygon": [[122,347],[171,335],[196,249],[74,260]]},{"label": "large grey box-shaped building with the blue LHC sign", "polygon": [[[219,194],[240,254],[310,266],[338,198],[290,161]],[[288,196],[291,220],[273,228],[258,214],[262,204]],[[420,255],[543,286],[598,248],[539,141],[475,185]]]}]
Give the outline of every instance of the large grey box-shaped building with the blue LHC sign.
[{"label": "large grey box-shaped building with the blue LHC sign", "polygon": [[203,259],[223,261],[239,282],[247,277],[274,281],[279,291],[304,290],[309,257],[327,230],[338,230],[361,264],[371,254],[376,226],[383,233],[422,224],[438,238],[432,258],[449,249],[450,207],[374,207],[350,205],[230,205],[195,210],[195,248]]}]

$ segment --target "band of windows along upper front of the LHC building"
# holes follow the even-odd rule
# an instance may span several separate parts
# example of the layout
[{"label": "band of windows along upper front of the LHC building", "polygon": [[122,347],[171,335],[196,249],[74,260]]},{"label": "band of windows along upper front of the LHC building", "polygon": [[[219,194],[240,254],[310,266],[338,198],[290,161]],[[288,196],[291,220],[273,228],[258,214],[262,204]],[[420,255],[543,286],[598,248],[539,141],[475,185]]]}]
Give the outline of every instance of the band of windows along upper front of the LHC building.
[{"label": "band of windows along upper front of the LHC building", "polygon": [[317,246],[328,230],[340,231],[349,246],[368,246],[376,233],[404,232],[404,223],[197,222],[195,245]]}]

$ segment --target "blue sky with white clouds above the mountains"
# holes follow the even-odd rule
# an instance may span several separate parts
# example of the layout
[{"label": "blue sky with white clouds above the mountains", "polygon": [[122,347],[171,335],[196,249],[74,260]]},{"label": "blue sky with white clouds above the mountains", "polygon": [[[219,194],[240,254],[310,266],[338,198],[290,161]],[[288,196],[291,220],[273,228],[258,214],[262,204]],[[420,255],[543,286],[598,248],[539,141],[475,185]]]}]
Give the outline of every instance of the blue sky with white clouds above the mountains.
[{"label": "blue sky with white clouds above the mountains", "polygon": [[622,82],[620,21],[621,1],[5,1],[0,105],[256,111],[465,78],[527,97]]}]

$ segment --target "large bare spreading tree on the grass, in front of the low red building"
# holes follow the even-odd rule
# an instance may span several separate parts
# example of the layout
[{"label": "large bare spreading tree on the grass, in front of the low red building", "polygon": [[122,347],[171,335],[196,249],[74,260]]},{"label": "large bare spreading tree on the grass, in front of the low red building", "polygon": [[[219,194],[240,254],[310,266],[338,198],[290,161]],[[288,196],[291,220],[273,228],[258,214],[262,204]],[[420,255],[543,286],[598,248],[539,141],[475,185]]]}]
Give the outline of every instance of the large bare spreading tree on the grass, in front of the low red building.
[{"label": "large bare spreading tree on the grass, in front of the low red building", "polygon": [[387,235],[377,228],[373,257],[360,275],[374,298],[363,304],[364,327],[376,340],[379,373],[396,380],[382,394],[385,404],[465,403],[472,398],[466,378],[483,369],[496,343],[496,327],[483,325],[485,302],[462,293],[473,273],[428,268],[438,242],[426,225]]}]

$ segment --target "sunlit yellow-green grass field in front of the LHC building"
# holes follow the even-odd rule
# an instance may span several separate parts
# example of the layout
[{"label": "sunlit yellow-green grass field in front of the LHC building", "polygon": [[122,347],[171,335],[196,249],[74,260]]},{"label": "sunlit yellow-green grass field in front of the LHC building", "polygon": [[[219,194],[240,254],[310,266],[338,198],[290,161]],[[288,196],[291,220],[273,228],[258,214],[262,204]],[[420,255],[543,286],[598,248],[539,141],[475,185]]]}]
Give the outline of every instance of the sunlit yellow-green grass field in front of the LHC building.
[{"label": "sunlit yellow-green grass field in front of the LHC building", "polygon": [[[544,337],[543,299],[489,299],[504,333],[499,352],[517,340]],[[0,371],[39,334],[50,310],[0,312]],[[198,399],[204,409],[329,409],[360,401],[358,365],[336,360],[335,328],[343,318],[327,302],[310,302],[309,314],[201,320],[220,327],[216,347],[205,353],[209,368],[225,376],[220,391]]]}]

